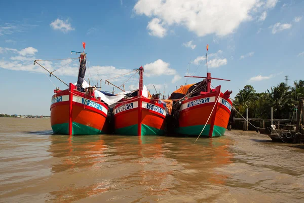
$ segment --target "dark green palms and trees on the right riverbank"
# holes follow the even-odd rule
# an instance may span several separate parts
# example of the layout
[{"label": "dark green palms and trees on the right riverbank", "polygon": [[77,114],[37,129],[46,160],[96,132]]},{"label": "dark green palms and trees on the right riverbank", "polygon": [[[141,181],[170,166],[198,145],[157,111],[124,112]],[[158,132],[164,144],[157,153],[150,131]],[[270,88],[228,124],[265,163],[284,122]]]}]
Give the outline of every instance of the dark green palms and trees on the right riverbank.
[{"label": "dark green palms and trees on the right riverbank", "polygon": [[[251,85],[246,85],[237,93],[233,100],[236,110],[249,118],[270,118],[270,108],[273,107],[273,117],[291,119],[298,99],[304,97],[304,80],[294,81],[293,87],[281,82],[270,90],[257,93]],[[237,117],[240,117],[237,114]]]}]

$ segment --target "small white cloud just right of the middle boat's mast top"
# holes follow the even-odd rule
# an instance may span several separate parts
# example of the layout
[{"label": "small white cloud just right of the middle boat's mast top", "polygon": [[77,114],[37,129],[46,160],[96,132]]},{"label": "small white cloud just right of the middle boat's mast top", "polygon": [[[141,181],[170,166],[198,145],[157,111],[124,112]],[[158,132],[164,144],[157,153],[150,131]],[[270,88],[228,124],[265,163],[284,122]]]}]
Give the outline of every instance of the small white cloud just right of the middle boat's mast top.
[{"label": "small white cloud just right of the middle boat's mast top", "polygon": [[147,63],[143,66],[145,76],[161,76],[161,75],[175,75],[176,71],[171,69],[170,64],[158,59],[152,63]]}]

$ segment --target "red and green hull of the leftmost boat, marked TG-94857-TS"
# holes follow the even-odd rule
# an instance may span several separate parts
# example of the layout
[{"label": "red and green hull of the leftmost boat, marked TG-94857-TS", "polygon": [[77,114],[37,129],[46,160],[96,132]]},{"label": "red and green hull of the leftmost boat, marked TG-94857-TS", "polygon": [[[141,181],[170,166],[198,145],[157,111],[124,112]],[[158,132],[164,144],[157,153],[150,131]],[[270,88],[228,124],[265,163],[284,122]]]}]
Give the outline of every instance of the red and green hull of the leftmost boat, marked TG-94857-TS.
[{"label": "red and green hull of the leftmost boat, marked TG-94857-TS", "polygon": [[108,107],[100,100],[69,89],[52,96],[51,126],[58,134],[102,134],[107,131]]}]

